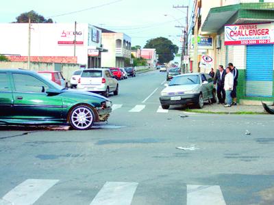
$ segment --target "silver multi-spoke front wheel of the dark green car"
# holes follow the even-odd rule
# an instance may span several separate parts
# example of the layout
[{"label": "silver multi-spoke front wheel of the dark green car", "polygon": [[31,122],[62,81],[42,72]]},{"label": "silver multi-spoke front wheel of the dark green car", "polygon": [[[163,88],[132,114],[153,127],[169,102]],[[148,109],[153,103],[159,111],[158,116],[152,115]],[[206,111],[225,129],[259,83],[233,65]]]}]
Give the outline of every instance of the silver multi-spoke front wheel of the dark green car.
[{"label": "silver multi-spoke front wheel of the dark green car", "polygon": [[71,123],[79,130],[90,127],[92,122],[92,112],[86,107],[79,107],[71,113]]}]

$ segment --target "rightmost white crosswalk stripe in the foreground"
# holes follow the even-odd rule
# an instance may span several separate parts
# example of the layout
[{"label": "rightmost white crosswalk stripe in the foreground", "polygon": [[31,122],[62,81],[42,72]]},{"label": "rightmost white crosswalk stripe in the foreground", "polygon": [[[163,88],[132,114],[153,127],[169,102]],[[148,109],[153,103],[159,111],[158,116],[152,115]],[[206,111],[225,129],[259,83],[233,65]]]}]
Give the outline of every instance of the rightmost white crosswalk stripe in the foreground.
[{"label": "rightmost white crosswalk stripe in the foreground", "polygon": [[219,186],[187,185],[187,205],[225,205]]}]

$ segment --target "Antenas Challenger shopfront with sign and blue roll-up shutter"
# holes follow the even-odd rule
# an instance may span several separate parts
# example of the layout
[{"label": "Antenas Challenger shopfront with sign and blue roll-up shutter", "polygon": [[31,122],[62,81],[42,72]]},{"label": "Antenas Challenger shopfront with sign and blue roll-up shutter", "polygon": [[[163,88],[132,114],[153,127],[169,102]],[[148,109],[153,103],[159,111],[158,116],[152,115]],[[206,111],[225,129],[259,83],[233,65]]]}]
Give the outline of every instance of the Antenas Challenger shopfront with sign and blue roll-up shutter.
[{"label": "Antenas Challenger shopfront with sign and blue roll-up shutter", "polygon": [[[240,49],[238,59],[234,61],[244,64],[239,69],[241,87],[238,87],[242,99],[273,98],[273,43],[274,24],[256,23],[241,25],[225,25],[225,46],[227,59]],[[232,46],[232,49],[229,47]],[[229,51],[232,51],[229,53]],[[233,61],[232,61],[233,62]],[[234,63],[235,64],[235,63]],[[237,65],[235,64],[237,67]],[[244,73],[243,73],[244,72]]]}]

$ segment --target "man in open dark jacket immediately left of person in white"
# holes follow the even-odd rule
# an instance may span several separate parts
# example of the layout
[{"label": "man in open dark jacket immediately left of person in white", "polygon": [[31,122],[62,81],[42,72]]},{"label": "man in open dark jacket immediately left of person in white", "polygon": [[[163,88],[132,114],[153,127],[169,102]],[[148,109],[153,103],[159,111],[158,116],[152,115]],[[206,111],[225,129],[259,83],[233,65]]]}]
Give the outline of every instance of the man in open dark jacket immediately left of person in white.
[{"label": "man in open dark jacket immediately left of person in white", "polygon": [[225,70],[223,70],[223,66],[219,66],[219,70],[216,71],[216,75],[214,77],[214,85],[217,83],[217,97],[218,104],[225,104]]}]

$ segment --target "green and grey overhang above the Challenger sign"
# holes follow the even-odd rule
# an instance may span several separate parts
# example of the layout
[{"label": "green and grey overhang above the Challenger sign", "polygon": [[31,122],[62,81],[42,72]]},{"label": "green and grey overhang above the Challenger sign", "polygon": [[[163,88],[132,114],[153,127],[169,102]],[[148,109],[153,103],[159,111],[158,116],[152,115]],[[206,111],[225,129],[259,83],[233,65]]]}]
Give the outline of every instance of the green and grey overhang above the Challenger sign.
[{"label": "green and grey overhang above the Challenger sign", "polygon": [[217,33],[225,24],[274,22],[274,3],[239,3],[211,8],[202,32]]}]

